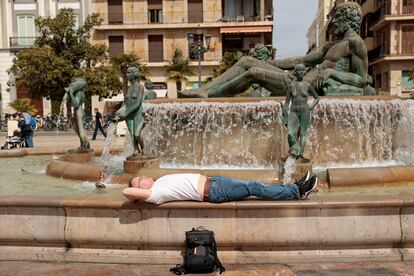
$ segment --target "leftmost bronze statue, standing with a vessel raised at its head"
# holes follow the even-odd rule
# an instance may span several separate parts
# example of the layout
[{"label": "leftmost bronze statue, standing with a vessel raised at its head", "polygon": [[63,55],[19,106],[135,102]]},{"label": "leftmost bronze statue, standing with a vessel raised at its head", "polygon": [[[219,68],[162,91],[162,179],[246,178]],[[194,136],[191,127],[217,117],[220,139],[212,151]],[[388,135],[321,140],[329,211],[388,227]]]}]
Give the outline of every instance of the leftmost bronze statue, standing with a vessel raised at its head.
[{"label": "leftmost bronze statue, standing with a vessel raised at its head", "polygon": [[80,147],[77,149],[77,152],[89,152],[91,146],[89,140],[86,137],[85,127],[83,126],[83,119],[85,117],[85,112],[83,110],[83,102],[85,100],[85,93],[83,89],[86,87],[86,81],[84,78],[77,78],[70,83],[69,87],[65,90],[69,93],[69,97],[72,101],[72,105],[75,108],[75,125],[74,130],[79,136]]}]

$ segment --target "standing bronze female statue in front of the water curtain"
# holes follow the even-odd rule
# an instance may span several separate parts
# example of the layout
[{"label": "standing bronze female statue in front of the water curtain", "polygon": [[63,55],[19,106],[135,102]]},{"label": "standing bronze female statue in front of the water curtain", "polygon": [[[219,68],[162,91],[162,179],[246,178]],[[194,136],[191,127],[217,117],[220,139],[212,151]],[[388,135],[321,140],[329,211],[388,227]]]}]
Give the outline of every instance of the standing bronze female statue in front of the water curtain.
[{"label": "standing bronze female statue in front of the water curtain", "polygon": [[[319,97],[313,86],[303,80],[306,74],[305,65],[296,65],[294,74],[296,81],[293,81],[288,87],[286,101],[283,105],[283,120],[288,128],[289,153],[300,158],[301,161],[309,161],[303,157],[303,152],[305,151],[311,111],[318,104]],[[310,107],[307,103],[309,94],[314,98]]]}]

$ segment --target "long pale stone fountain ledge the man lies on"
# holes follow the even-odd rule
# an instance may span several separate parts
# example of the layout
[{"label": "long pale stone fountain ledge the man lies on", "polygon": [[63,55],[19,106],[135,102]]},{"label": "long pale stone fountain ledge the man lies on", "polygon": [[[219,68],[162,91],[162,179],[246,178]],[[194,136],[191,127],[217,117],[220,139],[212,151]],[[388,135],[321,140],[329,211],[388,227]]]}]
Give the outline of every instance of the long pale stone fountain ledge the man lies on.
[{"label": "long pale stone fountain ledge the man lies on", "polygon": [[0,260],[173,265],[181,262],[184,231],[199,225],[215,232],[224,264],[414,260],[408,195],[160,206],[121,195],[6,196]]}]

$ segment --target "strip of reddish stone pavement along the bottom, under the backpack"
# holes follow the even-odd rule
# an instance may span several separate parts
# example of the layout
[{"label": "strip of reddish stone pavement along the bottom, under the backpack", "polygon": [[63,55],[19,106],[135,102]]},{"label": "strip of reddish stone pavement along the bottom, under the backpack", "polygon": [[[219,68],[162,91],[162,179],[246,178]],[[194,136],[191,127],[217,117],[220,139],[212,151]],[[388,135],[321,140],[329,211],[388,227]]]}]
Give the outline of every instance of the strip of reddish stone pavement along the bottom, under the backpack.
[{"label": "strip of reddish stone pavement along the bottom, under the backpack", "polygon": [[[414,263],[312,263],[292,265],[226,265],[225,276],[376,276],[414,275]],[[0,261],[0,276],[115,276],[115,275],[174,275],[171,265],[125,265],[90,263],[45,263]],[[203,275],[203,274],[197,274]],[[212,273],[208,275],[220,275]]]}]

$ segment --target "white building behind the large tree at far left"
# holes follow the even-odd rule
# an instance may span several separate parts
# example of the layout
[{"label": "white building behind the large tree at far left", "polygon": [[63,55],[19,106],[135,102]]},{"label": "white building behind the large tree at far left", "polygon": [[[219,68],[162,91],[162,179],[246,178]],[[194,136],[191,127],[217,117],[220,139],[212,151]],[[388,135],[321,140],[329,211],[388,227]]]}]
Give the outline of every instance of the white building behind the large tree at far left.
[{"label": "white building behind the large tree at far left", "polygon": [[[15,53],[33,45],[37,31],[35,18],[54,17],[60,9],[71,8],[75,21],[81,24],[89,13],[88,0],[1,0],[0,1],[0,93],[2,105],[0,112],[12,112],[9,102],[27,97],[27,90],[11,88],[6,91],[7,81],[13,78],[7,74]],[[49,113],[50,103],[35,100],[39,112]]]}]

